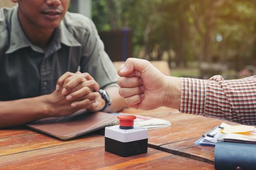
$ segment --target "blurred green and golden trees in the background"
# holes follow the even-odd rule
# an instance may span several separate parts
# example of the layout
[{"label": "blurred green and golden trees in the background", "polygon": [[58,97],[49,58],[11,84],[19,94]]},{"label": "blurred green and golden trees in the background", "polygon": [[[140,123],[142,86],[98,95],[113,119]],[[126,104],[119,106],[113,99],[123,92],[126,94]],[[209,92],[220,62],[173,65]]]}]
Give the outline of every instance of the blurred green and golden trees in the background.
[{"label": "blurred green and golden trees in the background", "polygon": [[98,31],[129,27],[134,56],[225,63],[230,69],[256,64],[256,0],[92,0]]}]

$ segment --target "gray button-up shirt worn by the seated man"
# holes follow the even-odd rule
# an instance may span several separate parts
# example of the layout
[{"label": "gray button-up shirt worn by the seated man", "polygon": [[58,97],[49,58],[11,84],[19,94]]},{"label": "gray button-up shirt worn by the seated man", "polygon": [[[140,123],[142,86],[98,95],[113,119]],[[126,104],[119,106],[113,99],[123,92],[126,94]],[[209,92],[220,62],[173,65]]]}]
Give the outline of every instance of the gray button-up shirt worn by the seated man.
[{"label": "gray button-up shirt worn by the seated man", "polygon": [[30,43],[18,19],[18,6],[0,9],[0,101],[49,94],[66,71],[88,72],[101,88],[117,82],[94,23],[66,13],[47,51]]}]

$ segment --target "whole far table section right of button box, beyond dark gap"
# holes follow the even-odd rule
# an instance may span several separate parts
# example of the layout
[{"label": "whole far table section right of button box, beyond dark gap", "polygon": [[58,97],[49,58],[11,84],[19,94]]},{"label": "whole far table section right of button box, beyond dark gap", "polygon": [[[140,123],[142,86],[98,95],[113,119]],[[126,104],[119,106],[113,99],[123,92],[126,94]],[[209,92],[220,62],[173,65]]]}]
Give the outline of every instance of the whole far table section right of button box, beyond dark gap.
[{"label": "whole far table section right of button box, beyond dark gap", "polygon": [[203,130],[208,132],[213,127],[220,125],[223,120],[182,114],[176,109],[166,107],[160,107],[152,111],[129,108],[122,112],[166,119],[172,123],[170,127],[149,131],[148,143],[150,147],[214,164],[214,147],[196,145],[194,142],[202,136]]}]

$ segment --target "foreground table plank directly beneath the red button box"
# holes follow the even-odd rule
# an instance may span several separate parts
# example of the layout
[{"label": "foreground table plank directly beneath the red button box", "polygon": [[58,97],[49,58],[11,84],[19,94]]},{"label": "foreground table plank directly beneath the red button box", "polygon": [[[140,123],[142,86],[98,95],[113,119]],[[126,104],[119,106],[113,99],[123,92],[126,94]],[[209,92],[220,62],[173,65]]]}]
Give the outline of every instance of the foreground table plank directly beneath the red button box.
[{"label": "foreground table plank directly beneath the red button box", "polygon": [[104,167],[119,169],[172,155],[170,153],[148,148],[148,153],[130,157],[120,157],[104,151],[104,136],[94,136],[94,138],[95,140],[86,142],[1,156],[0,169],[92,170]]}]

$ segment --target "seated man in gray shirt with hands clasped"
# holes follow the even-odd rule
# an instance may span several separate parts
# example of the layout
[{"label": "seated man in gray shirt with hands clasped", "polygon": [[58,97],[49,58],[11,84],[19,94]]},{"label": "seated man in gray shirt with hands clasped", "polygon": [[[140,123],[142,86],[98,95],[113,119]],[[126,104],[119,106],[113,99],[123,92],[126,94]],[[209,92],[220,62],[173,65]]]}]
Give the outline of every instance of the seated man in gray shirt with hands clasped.
[{"label": "seated man in gray shirt with hands clasped", "polygon": [[66,12],[70,0],[12,1],[0,9],[0,127],[124,107],[94,23]]}]

